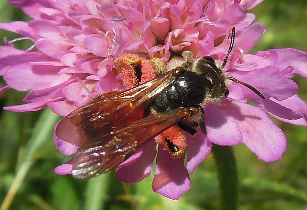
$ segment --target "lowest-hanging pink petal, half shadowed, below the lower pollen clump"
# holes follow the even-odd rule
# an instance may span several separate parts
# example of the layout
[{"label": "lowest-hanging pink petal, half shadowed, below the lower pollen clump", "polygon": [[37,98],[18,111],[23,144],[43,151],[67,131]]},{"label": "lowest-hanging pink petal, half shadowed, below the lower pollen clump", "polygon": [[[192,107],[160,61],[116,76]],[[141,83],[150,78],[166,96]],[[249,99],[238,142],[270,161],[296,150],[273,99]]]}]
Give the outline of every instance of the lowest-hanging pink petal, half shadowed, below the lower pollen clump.
[{"label": "lowest-hanging pink petal, half shadowed, below the lower pollen clump", "polygon": [[190,189],[190,177],[184,166],[184,158],[172,158],[169,152],[158,150],[152,189],[164,197],[178,200]]}]

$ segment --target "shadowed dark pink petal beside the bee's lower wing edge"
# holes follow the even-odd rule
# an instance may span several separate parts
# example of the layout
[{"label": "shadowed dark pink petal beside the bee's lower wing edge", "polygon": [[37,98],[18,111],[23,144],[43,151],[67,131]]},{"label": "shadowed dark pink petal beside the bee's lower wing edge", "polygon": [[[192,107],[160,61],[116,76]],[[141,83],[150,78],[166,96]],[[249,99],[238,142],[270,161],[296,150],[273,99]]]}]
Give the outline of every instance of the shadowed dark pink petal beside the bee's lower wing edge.
[{"label": "shadowed dark pink petal beside the bee's lower wing edge", "polygon": [[[133,164],[121,167],[116,177],[126,183],[135,183],[143,180],[150,175],[152,169],[152,162],[155,159],[156,142],[155,140],[150,140],[144,146],[143,153],[141,157]],[[125,161],[126,162],[126,161]]]}]

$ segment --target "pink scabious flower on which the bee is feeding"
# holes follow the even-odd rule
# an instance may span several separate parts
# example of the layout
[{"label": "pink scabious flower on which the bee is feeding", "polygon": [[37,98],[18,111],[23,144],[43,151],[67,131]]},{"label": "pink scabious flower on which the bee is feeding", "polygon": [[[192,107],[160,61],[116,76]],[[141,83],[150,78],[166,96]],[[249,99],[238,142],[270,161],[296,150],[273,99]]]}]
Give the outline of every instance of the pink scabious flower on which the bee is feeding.
[{"label": "pink scabious flower on which the bee is feeding", "polygon": [[[230,44],[229,29],[235,27],[225,74],[255,87],[266,99],[229,83],[228,97],[204,108],[207,133],[186,135],[186,165],[184,158],[174,159],[161,147],[157,152],[155,140],[150,140],[120,165],[117,177],[129,183],[141,181],[149,176],[157,156],[153,191],[179,199],[190,188],[189,174],[209,154],[212,143],[242,142],[259,159],[276,161],[287,142],[267,113],[284,122],[307,125],[307,105],[290,79],[307,77],[307,53],[291,48],[247,53],[265,32],[263,24],[252,24],[255,16],[247,10],[262,1],[11,0],[32,20],[0,23],[0,28],[32,40],[34,48],[15,49],[14,40],[0,46],[0,74],[7,84],[0,93],[9,88],[31,91],[25,104],[5,109],[24,112],[50,107],[66,116],[93,96],[125,90],[114,71],[114,59],[125,53],[167,62],[173,53],[189,50],[195,57],[212,56],[222,63]],[[77,151],[77,146],[54,138],[63,154]],[[71,174],[72,161],[55,172]]]}]

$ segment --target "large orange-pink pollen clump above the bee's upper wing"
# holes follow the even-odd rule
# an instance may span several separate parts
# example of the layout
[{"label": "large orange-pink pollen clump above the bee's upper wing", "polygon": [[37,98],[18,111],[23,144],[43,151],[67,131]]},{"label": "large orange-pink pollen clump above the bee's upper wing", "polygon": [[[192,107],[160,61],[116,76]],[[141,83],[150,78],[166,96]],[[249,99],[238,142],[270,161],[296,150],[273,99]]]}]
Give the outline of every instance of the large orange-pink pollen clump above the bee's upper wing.
[{"label": "large orange-pink pollen clump above the bee's upper wing", "polygon": [[115,59],[114,65],[127,89],[156,77],[155,67],[148,60],[136,54],[121,55]]}]

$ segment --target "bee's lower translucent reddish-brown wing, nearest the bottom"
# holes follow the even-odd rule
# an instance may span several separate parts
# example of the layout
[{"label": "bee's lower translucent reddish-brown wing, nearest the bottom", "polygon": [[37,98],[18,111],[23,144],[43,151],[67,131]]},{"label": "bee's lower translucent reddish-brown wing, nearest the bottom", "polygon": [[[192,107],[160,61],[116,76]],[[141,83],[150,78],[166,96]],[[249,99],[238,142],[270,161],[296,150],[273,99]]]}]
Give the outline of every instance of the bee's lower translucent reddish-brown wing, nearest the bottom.
[{"label": "bee's lower translucent reddish-brown wing, nearest the bottom", "polygon": [[104,143],[79,149],[73,158],[73,176],[89,179],[115,169],[135,154],[147,140],[160,134],[178,121],[199,112],[198,108],[178,108],[132,122],[127,127],[115,129],[106,135]]}]

